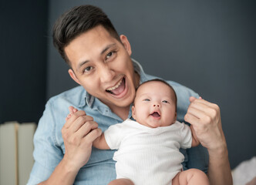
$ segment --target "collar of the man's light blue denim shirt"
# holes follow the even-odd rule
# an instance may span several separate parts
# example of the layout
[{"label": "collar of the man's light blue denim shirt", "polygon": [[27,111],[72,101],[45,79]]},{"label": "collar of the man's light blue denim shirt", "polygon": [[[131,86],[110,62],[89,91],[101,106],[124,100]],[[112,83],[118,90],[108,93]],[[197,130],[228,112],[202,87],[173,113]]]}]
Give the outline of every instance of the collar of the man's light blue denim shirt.
[{"label": "collar of the man's light blue denim shirt", "polygon": [[[132,59],[132,62],[133,62],[134,71],[136,71],[140,75],[140,83],[147,81],[148,80],[147,76],[143,71],[142,66],[140,66],[140,63],[137,62],[135,59]],[[82,107],[82,106],[86,106],[87,104],[90,108],[92,108],[94,100],[95,100],[95,97],[86,92],[85,98],[81,101],[79,106]]]}]

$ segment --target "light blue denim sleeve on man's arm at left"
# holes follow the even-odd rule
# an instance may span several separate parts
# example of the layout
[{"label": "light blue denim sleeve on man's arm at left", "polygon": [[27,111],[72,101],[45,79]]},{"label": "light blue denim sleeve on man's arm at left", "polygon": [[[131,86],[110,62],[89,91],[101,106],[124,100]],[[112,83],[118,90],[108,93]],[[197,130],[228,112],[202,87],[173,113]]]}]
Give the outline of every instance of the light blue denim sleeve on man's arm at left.
[{"label": "light blue denim sleeve on man's arm at left", "polygon": [[56,123],[52,116],[51,104],[48,102],[35,131],[33,152],[35,163],[27,185],[47,180],[62,160],[63,153],[56,144],[55,131]]}]

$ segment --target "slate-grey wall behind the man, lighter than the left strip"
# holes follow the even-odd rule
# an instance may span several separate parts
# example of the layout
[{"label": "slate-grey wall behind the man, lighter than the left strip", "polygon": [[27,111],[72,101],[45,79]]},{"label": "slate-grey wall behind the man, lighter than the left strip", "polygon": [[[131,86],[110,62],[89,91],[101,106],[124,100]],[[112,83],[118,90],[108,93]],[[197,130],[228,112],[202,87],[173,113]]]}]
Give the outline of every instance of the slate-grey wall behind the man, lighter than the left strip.
[{"label": "slate-grey wall behind the man, lighter than the left strip", "polygon": [[[50,1],[49,26],[75,5],[103,8],[145,72],[221,107],[231,167],[256,155],[254,1]],[[50,33],[49,33],[50,35]],[[49,39],[47,96],[76,86]]]}]

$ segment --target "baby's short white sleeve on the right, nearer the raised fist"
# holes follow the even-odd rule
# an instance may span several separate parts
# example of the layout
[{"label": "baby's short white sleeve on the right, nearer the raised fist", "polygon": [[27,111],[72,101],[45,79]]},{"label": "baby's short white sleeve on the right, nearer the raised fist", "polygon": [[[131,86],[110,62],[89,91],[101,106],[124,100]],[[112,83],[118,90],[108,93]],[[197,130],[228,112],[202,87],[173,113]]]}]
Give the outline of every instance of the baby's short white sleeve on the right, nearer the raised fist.
[{"label": "baby's short white sleeve on the right, nearer the raised fist", "polygon": [[180,147],[183,149],[190,148],[192,145],[192,133],[190,130],[190,126],[185,123],[181,123],[180,135],[181,135],[181,143]]}]

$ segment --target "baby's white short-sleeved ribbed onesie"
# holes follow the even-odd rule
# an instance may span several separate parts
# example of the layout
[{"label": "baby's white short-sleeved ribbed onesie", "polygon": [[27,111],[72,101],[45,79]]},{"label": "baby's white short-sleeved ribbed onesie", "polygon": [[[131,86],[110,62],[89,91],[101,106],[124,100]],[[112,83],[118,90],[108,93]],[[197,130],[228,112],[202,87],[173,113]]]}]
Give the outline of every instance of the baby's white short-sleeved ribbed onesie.
[{"label": "baby's white short-sleeved ribbed onesie", "polygon": [[190,148],[189,126],[176,121],[170,126],[150,128],[131,119],[109,126],[104,132],[116,160],[116,179],[126,178],[135,185],[170,185],[182,170],[181,148]]}]

